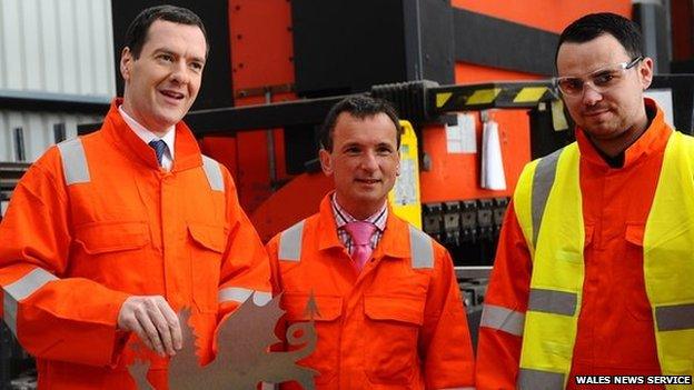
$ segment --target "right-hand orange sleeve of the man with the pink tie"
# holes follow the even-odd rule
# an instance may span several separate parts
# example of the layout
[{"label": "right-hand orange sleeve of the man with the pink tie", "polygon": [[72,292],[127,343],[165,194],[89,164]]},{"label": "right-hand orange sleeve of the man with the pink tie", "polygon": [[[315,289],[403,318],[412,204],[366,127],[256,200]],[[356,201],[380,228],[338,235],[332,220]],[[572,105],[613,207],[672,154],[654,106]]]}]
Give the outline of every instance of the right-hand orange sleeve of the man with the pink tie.
[{"label": "right-hand orange sleeve of the man with the pink tie", "polygon": [[439,244],[435,258],[419,338],[426,388],[470,387],[475,359],[453,261]]}]

